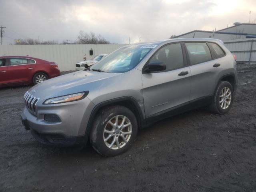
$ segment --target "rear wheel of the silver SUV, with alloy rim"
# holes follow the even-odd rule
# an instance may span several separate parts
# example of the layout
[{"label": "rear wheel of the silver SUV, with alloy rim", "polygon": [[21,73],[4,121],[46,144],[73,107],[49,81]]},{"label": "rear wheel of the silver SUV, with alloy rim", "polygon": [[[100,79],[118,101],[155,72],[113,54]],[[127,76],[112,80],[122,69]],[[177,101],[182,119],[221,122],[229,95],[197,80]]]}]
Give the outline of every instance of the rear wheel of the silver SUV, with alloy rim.
[{"label": "rear wheel of the silver SUV, with alloy rim", "polygon": [[210,110],[218,114],[227,113],[233,104],[233,100],[234,90],[232,85],[227,81],[221,81],[214,94]]}]

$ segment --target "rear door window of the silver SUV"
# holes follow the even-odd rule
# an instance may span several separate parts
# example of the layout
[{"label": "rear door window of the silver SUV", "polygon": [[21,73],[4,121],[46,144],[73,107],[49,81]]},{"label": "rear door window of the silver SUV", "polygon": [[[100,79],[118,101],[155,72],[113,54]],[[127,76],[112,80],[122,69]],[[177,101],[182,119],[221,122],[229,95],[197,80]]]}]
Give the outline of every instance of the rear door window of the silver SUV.
[{"label": "rear door window of the silver SUV", "polygon": [[209,47],[205,42],[185,43],[188,50],[190,64],[198,64],[212,59]]}]

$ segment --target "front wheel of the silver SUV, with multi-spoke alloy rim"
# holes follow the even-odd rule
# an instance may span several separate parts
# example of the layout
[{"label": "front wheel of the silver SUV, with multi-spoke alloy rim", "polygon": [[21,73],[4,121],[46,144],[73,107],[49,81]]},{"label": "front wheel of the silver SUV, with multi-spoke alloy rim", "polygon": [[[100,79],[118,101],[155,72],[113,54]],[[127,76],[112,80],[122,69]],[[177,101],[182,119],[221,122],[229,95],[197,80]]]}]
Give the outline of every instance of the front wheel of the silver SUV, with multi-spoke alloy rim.
[{"label": "front wheel of the silver SUV, with multi-spoke alloy rim", "polygon": [[137,119],[128,108],[110,106],[98,112],[90,133],[90,141],[99,154],[116,156],[131,147],[137,130]]}]

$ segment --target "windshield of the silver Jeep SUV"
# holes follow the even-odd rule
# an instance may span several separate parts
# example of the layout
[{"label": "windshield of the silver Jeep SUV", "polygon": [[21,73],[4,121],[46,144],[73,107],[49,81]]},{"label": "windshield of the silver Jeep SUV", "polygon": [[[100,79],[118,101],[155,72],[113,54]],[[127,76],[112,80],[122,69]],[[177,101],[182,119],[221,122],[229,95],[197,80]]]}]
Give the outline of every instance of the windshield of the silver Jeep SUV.
[{"label": "windshield of the silver Jeep SUV", "polygon": [[134,67],[152,50],[145,46],[120,48],[90,67],[90,70],[110,73],[124,73]]}]

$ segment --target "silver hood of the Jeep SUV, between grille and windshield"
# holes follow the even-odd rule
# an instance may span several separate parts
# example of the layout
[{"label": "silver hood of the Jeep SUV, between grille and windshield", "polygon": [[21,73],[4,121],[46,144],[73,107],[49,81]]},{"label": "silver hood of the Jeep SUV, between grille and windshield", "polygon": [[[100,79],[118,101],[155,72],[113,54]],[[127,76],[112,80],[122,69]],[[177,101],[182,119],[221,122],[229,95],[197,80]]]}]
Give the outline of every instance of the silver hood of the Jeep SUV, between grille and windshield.
[{"label": "silver hood of the Jeep SUV, between grille and windshield", "polygon": [[48,99],[83,91],[90,91],[92,82],[118,76],[121,73],[106,73],[97,71],[78,71],[49,79],[30,88],[28,92],[33,96]]}]

